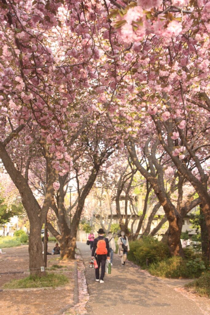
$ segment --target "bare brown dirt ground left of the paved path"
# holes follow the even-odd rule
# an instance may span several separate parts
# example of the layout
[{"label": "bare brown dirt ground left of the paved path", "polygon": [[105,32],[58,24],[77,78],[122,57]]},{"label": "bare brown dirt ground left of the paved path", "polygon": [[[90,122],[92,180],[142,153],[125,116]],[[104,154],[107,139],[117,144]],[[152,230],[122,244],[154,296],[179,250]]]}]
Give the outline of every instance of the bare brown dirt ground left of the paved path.
[{"label": "bare brown dirt ground left of the paved path", "polygon": [[[48,251],[54,247],[54,243],[48,244]],[[0,288],[12,279],[25,278],[29,275],[28,246],[23,245],[14,248],[5,248],[6,254],[0,254],[0,273],[3,272],[25,272],[16,274],[0,274]],[[53,315],[67,304],[73,302],[74,290],[74,261],[60,261],[59,255],[48,255],[47,267],[52,265],[63,265],[66,268],[50,272],[65,274],[70,282],[65,287],[55,289],[27,289],[10,290],[0,292],[0,315]],[[62,299],[62,303],[60,302]]]}]

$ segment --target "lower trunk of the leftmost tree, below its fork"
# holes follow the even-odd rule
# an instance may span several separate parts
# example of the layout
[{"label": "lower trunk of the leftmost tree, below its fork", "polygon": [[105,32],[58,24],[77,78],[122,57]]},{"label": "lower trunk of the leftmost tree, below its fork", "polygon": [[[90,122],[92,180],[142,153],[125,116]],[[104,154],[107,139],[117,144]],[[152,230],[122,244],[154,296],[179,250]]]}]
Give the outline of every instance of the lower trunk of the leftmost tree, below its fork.
[{"label": "lower trunk of the leftmost tree, below its fork", "polygon": [[29,234],[29,269],[31,276],[44,276],[45,271],[41,272],[41,267],[45,266],[42,255],[42,240],[41,240],[41,223],[30,224]]}]

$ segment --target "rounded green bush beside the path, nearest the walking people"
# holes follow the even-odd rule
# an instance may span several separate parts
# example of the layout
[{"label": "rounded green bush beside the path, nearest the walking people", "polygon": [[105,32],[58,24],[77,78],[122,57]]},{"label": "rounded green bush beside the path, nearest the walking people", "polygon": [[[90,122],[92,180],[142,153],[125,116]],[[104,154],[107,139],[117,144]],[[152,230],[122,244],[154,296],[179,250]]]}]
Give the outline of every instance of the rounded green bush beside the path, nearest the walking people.
[{"label": "rounded green bush beside the path, nearest the walking people", "polygon": [[148,264],[156,263],[169,257],[169,255],[169,250],[165,243],[159,242],[153,237],[144,237],[130,242],[128,260],[145,268],[146,261],[148,261]]}]

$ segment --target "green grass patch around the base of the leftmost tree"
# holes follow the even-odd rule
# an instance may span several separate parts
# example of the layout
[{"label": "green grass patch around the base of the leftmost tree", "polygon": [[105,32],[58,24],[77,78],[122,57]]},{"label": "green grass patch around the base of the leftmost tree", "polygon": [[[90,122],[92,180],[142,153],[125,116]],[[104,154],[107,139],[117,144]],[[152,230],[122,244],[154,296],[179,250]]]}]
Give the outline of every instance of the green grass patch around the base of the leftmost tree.
[{"label": "green grass patch around the base of the leftmost tree", "polygon": [[20,280],[12,280],[3,285],[4,289],[59,287],[67,284],[69,279],[65,275],[48,273],[44,277],[29,276]]}]

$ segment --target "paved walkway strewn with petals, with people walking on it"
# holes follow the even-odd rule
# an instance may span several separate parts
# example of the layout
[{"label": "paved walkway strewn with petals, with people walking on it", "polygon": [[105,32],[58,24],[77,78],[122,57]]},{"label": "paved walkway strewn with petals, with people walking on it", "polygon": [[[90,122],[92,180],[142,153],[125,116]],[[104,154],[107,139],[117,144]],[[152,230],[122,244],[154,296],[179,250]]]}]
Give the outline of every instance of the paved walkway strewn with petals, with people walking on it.
[{"label": "paved walkway strewn with petals, with people walking on it", "polygon": [[[111,275],[105,274],[104,284],[95,282],[94,269],[88,267],[90,247],[77,243],[85,267],[90,299],[88,315],[208,315],[195,300],[177,292],[162,280],[150,276],[131,262],[124,267],[114,255]],[[199,298],[198,298],[199,299]],[[210,303],[205,299],[210,307]],[[210,309],[210,308],[209,308]],[[207,308],[205,307],[205,310]]]}]

